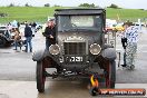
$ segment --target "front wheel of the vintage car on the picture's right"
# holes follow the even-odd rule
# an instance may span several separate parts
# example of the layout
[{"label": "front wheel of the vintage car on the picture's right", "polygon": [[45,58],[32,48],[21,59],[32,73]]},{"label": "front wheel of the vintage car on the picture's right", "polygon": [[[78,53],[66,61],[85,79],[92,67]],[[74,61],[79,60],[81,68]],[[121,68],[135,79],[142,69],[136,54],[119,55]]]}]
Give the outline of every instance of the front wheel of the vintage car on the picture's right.
[{"label": "front wheel of the vintage car on the picture's right", "polygon": [[109,65],[106,69],[106,87],[107,88],[115,88],[116,84],[116,62],[115,60],[109,61]]}]

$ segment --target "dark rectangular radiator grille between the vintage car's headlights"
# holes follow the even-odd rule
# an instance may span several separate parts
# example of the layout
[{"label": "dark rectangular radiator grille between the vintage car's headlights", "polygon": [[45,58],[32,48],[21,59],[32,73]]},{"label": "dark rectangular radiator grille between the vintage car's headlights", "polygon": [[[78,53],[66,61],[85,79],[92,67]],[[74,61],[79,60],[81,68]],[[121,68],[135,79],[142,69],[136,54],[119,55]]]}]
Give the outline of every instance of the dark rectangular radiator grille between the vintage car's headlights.
[{"label": "dark rectangular radiator grille between the vintage car's headlights", "polygon": [[86,42],[63,42],[65,55],[86,55]]}]

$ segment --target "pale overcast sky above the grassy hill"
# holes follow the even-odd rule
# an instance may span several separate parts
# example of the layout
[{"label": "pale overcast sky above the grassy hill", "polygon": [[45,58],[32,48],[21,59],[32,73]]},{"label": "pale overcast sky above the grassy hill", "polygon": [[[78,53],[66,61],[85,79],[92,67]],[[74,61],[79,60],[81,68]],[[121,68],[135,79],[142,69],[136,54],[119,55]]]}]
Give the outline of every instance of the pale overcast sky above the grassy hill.
[{"label": "pale overcast sky above the grassy hill", "polygon": [[24,6],[28,2],[29,4],[37,7],[42,7],[45,3],[50,3],[51,6],[76,7],[86,2],[95,3],[102,8],[115,3],[120,8],[147,9],[147,0],[0,0],[0,6],[9,6],[11,2],[16,6]]}]

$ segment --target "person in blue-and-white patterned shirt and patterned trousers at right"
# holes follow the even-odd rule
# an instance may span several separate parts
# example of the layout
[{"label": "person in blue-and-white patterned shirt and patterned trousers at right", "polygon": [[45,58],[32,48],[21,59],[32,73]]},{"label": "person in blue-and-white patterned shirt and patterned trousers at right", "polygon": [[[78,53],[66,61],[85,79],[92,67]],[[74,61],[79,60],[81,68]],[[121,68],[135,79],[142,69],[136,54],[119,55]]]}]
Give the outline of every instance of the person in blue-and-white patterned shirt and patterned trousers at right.
[{"label": "person in blue-and-white patterned shirt and patterned trousers at right", "polygon": [[130,22],[124,23],[125,36],[127,38],[126,47],[126,68],[135,68],[135,55],[137,52],[137,41],[138,41],[138,28],[131,26]]}]

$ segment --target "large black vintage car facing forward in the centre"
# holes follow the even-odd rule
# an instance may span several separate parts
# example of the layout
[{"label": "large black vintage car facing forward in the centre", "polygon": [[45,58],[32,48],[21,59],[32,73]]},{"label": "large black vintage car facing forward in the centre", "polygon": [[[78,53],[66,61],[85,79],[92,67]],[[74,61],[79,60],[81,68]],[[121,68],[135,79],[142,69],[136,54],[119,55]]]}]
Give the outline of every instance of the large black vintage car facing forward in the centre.
[{"label": "large black vintage car facing forward in the centre", "polygon": [[[57,9],[56,45],[33,53],[37,61],[37,89],[45,91],[46,77],[105,78],[115,88],[116,50],[105,41],[106,10]],[[46,68],[56,68],[48,74]]]}]

